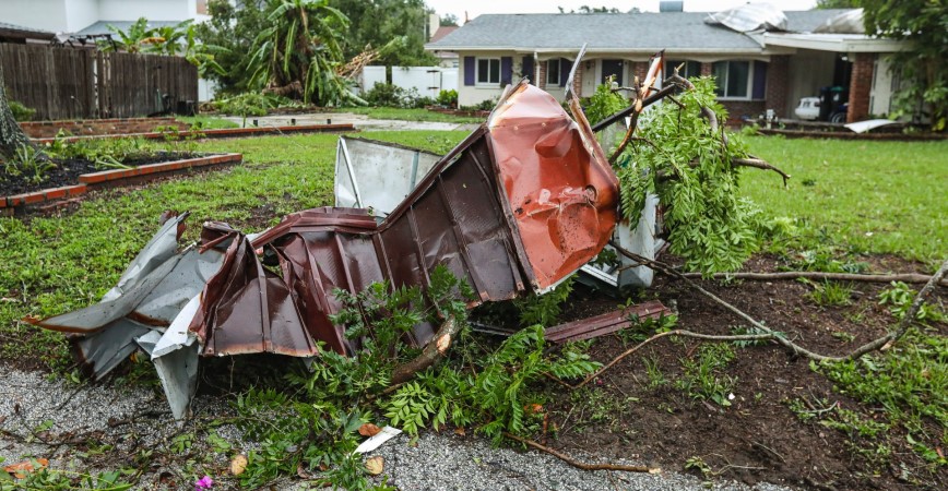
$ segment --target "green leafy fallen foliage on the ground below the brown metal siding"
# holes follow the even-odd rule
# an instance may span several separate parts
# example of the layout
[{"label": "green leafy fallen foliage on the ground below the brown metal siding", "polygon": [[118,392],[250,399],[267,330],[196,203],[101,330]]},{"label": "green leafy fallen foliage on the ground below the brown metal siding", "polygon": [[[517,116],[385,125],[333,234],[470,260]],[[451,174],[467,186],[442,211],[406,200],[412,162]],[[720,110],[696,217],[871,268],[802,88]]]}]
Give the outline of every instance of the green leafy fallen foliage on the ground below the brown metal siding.
[{"label": "green leafy fallen foliage on the ground below the brown metal siding", "polygon": [[366,489],[362,458],[353,455],[358,429],[388,420],[408,434],[447,424],[473,427],[499,444],[503,433],[528,435],[542,420],[546,374],[571,380],[592,373],[599,363],[569,345],[547,352],[540,325],[510,336],[496,350],[473,347],[462,332],[455,358],[391,387],[394,368],[418,350],[404,343],[419,322],[465,322],[464,299],[473,291],[445,267],[431,274],[427,291],[378,284],[359,295],[336,291],[344,310],[333,318],[346,336],[360,339],[353,357],[322,350],[311,373],[287,376],[285,391],[250,390],[238,397],[240,428],[261,445],[248,454],[247,487],[263,486],[281,475],[324,470],[321,479],[345,489]]}]

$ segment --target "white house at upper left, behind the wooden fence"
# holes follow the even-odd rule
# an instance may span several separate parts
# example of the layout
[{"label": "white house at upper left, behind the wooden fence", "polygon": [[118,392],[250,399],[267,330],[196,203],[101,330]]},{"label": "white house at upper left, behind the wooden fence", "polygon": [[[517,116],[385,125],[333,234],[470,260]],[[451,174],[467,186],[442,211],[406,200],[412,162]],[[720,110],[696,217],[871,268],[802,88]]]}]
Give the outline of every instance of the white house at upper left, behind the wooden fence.
[{"label": "white house at upper left, behind the wooden fence", "polygon": [[3,0],[0,19],[33,29],[69,34],[107,34],[107,25],[127,28],[139,17],[153,26],[208,19],[208,0]]}]

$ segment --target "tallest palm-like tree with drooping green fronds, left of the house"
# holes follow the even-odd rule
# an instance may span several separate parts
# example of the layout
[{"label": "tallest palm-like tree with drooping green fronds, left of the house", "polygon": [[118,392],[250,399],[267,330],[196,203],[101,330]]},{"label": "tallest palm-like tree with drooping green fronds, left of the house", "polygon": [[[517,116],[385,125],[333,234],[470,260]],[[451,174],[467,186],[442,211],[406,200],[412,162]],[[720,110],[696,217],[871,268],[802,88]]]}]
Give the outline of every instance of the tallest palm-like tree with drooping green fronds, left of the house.
[{"label": "tallest palm-like tree with drooping green fronds, left of the house", "polygon": [[336,70],[344,62],[340,43],[348,19],[328,0],[270,0],[265,28],[254,41],[249,65],[258,86],[298,84],[306,103],[360,101]]}]

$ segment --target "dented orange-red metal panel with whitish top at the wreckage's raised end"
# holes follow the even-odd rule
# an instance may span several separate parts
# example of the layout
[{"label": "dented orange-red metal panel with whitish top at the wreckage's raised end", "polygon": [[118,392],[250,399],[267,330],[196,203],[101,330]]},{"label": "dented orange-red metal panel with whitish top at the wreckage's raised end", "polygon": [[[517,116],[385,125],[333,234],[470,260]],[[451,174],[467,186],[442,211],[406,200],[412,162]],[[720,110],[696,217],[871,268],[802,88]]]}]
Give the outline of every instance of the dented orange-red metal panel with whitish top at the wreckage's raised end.
[{"label": "dented orange-red metal panel with whitish top at the wreckage's raised end", "polygon": [[536,287],[547,288],[608,242],[617,220],[618,180],[580,124],[532,85],[510,91],[488,127],[493,161]]}]

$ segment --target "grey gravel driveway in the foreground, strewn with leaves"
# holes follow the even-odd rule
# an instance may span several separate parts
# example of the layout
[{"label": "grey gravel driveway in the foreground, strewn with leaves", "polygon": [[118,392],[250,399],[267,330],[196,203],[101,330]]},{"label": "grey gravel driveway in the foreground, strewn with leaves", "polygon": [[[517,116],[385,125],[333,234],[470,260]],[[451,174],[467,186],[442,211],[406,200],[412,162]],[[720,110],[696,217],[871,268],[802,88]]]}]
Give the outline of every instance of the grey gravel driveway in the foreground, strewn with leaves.
[{"label": "grey gravel driveway in the foreground, strewn with leaves", "polygon": [[[177,422],[159,391],[116,384],[74,385],[50,381],[39,372],[2,369],[0,385],[0,457],[5,464],[28,457],[44,457],[55,469],[102,471],[129,467],[142,450],[170,453],[175,435],[193,428],[192,421]],[[228,400],[197,397],[198,418],[230,415]],[[48,428],[47,428],[48,427]],[[217,433],[235,448],[252,447],[233,427]],[[32,436],[31,436],[32,434]],[[88,443],[111,445],[102,453],[88,452]],[[76,445],[84,448],[83,454]],[[210,448],[195,442],[194,448]],[[208,452],[211,452],[210,450]],[[156,452],[159,453],[159,452]],[[489,442],[471,435],[423,433],[416,442],[399,435],[371,455],[384,458],[389,484],[401,490],[789,490],[773,484],[715,481],[711,488],[690,475],[664,471],[644,475],[617,471],[583,471],[537,452],[491,448]],[[577,458],[594,460],[590,456]],[[179,460],[186,460],[181,458]],[[155,458],[135,489],[190,489],[193,471],[188,464]],[[642,464],[619,462],[615,464]],[[212,464],[226,468],[220,455]],[[206,469],[206,467],[203,467]],[[93,470],[90,470],[93,469]],[[232,489],[226,476],[212,476],[215,489]],[[164,483],[162,482],[164,480]],[[185,484],[187,483],[187,486]],[[298,480],[284,481],[276,489],[306,489]]]}]

